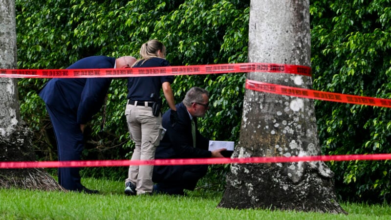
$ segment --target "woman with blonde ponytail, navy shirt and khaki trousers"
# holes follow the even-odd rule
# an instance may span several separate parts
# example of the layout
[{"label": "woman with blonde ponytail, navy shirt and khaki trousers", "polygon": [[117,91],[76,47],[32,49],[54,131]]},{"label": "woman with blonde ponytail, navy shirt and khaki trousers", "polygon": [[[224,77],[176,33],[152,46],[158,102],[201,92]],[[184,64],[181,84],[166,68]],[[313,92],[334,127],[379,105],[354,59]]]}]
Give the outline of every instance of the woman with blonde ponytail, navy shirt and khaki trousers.
[{"label": "woman with blonde ponytail, navy shirt and khaki trousers", "polygon": [[[132,67],[170,66],[166,58],[166,47],[158,40],[150,40],[142,44],[141,59]],[[154,159],[156,147],[160,143],[163,131],[160,109],[154,108],[160,100],[160,89],[171,110],[176,111],[174,93],[171,84],[174,76],[143,76],[128,78],[128,103],[125,110],[130,138],[135,143],[131,160]],[[152,108],[153,107],[153,108]],[[125,194],[151,194],[153,166],[132,165],[125,180]]]}]

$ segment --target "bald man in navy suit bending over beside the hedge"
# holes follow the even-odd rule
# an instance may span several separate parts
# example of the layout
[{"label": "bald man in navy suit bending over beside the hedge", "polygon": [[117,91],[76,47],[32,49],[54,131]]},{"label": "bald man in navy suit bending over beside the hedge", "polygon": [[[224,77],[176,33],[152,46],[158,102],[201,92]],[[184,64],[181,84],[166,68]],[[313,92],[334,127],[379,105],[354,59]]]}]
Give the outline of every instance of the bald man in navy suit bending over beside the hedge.
[{"label": "bald man in navy suit bending over beside the hedge", "polygon": [[[127,68],[134,57],[106,56],[83,58],[67,69]],[[80,160],[84,149],[83,132],[88,121],[104,104],[112,78],[55,78],[39,91],[56,135],[60,161]],[[67,190],[97,194],[82,185],[80,168],[59,168],[58,181]]]}]

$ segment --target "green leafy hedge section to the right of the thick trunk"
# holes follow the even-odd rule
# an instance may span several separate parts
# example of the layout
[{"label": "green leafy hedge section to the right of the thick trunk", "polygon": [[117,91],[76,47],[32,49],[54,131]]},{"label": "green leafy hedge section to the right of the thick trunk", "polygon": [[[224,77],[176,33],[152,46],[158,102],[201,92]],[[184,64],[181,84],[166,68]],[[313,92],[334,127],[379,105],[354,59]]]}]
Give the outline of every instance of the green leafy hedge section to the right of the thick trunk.
[{"label": "green leafy hedge section to the right of the thick trunk", "polygon": [[[314,88],[391,98],[389,0],[312,3]],[[324,154],[389,154],[389,108],[316,102]],[[390,161],[331,162],[344,199],[390,201]]]}]

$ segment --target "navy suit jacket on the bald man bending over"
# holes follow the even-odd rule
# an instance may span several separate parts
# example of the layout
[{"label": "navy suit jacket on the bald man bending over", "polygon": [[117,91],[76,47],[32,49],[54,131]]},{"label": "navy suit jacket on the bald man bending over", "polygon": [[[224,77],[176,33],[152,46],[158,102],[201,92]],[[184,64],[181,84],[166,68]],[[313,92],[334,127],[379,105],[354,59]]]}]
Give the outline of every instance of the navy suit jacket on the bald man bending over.
[{"label": "navy suit jacket on the bald man bending over", "polygon": [[[67,69],[114,68],[115,58],[83,58]],[[103,105],[112,78],[54,78],[39,91],[46,105],[77,115],[78,124],[86,124]]]}]

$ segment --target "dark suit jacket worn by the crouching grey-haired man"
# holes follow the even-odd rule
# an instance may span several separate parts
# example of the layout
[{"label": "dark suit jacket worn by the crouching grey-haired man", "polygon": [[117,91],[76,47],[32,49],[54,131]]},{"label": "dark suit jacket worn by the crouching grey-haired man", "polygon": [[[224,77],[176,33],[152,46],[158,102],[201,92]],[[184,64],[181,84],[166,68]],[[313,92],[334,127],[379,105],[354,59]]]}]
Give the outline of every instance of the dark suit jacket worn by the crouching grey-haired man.
[{"label": "dark suit jacket worn by the crouching grey-haired man", "polygon": [[[183,103],[176,105],[179,120],[172,123],[171,109],[163,114],[162,126],[166,134],[156,148],[156,159],[170,158],[210,158],[209,139],[196,130],[196,147],[193,147],[192,124],[188,111]],[[180,179],[185,166],[154,166],[152,180],[154,182],[175,181]]]}]

